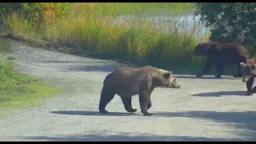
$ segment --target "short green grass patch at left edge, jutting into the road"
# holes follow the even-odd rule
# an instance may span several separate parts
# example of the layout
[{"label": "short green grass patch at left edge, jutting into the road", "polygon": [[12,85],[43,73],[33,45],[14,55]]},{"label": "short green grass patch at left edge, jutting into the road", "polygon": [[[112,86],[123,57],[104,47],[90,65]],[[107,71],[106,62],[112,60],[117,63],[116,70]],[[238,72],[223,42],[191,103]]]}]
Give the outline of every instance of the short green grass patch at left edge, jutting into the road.
[{"label": "short green grass patch at left edge, jutting into the road", "polygon": [[58,94],[55,86],[39,78],[18,74],[7,60],[0,59],[0,111],[38,106],[39,98]]}]

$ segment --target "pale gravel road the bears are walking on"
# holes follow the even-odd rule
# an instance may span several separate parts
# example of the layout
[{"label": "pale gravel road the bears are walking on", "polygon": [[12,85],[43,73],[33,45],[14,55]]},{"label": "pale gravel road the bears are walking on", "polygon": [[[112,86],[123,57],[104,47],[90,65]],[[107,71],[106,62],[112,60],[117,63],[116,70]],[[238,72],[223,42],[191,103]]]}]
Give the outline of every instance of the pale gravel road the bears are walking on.
[{"label": "pale gravel road the bears are walking on", "polygon": [[175,74],[181,89],[158,88],[152,117],[127,114],[115,96],[98,113],[103,79],[121,63],[83,58],[6,40],[16,69],[60,86],[44,106],[0,118],[0,141],[256,141],[256,97],[241,78]]}]

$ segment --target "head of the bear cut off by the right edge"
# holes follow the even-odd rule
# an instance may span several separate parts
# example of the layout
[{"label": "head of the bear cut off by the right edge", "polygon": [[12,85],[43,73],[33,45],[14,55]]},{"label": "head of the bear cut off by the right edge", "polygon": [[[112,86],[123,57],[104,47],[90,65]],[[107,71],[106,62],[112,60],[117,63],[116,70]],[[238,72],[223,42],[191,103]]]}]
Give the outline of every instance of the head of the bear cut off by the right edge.
[{"label": "head of the bear cut off by the right edge", "polygon": [[256,75],[256,63],[254,61],[248,60],[246,62],[241,62],[241,72],[242,72],[242,82],[247,82],[250,77]]}]

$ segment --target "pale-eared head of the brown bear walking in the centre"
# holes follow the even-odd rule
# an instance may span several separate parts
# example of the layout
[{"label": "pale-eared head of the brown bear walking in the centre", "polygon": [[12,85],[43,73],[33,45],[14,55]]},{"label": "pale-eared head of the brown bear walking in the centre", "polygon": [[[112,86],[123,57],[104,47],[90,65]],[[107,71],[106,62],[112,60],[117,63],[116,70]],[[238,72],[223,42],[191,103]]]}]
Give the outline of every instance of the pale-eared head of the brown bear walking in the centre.
[{"label": "pale-eared head of the brown bear walking in the centre", "polygon": [[166,71],[162,69],[158,69],[160,74],[162,74],[162,78],[160,78],[159,86],[160,87],[168,87],[179,89],[181,86],[176,82],[176,78],[172,75],[171,71]]}]

